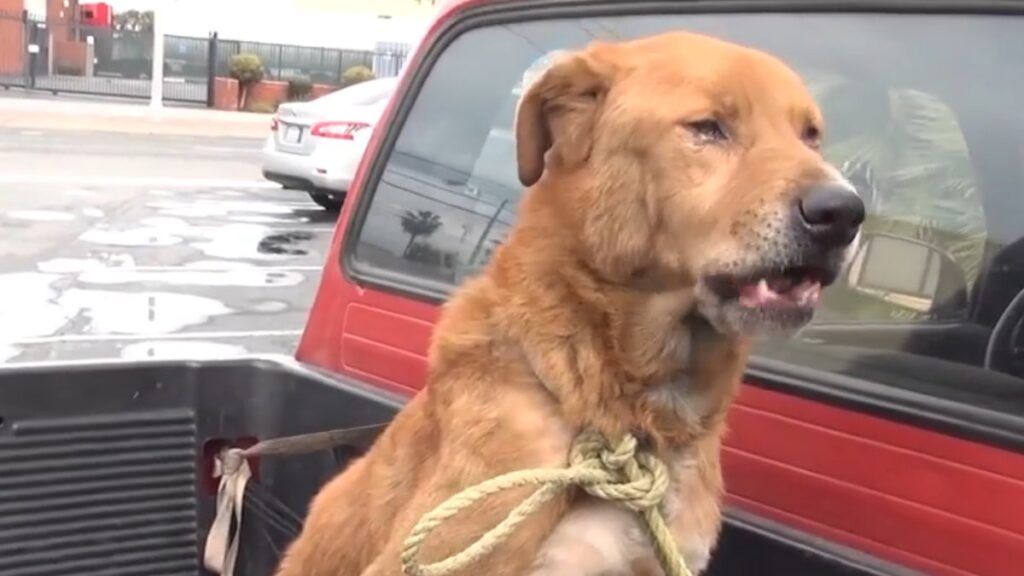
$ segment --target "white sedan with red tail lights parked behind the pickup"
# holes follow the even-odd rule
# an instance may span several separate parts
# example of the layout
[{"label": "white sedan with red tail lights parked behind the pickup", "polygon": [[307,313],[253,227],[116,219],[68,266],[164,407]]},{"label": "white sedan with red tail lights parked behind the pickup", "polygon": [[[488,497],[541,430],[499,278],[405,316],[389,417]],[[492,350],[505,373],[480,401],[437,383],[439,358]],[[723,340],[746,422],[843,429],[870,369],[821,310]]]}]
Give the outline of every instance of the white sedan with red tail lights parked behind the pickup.
[{"label": "white sedan with red tail lights parked behind the pickup", "polygon": [[337,210],[397,78],[360,82],[307,102],[283,104],[263,146],[263,177]]}]

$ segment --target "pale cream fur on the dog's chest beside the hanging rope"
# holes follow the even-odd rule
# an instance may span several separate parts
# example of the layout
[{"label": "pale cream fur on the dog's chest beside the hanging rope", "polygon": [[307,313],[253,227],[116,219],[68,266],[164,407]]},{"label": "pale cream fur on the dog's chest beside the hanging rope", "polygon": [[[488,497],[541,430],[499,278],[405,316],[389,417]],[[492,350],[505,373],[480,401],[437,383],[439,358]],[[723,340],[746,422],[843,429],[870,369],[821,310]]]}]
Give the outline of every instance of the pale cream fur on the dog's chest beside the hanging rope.
[{"label": "pale cream fur on the dog's chest beside the hanging rope", "polygon": [[[691,460],[671,464],[673,486],[664,511],[686,566],[708,564],[721,517]],[[545,541],[529,576],[663,576],[640,517],[618,504],[587,499],[571,508]]]}]

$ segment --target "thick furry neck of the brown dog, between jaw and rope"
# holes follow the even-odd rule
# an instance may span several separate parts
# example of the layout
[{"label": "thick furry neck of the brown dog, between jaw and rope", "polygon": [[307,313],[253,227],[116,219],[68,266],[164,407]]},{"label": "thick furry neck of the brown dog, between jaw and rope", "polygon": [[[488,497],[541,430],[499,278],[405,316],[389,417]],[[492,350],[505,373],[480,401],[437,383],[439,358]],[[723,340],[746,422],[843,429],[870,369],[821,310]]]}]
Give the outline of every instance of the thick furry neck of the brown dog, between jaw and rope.
[{"label": "thick furry neck of the brown dog, between jaw and rope", "polygon": [[[544,242],[534,235],[510,242]],[[692,290],[602,284],[550,245],[501,250],[488,270],[494,321],[566,421],[682,447],[721,425],[746,342],[692,313]],[[537,254],[548,257],[537,258]]]}]

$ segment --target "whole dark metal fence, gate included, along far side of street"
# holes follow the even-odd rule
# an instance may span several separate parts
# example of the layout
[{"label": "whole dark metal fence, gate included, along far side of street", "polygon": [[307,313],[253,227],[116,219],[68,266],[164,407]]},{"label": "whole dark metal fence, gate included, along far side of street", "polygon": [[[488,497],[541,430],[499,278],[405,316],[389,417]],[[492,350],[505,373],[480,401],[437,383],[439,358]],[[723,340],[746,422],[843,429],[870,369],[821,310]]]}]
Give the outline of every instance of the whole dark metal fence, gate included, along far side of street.
[{"label": "whole dark metal fence, gate included, along far side of street", "polygon": [[[152,31],[118,31],[71,22],[47,22],[29,12],[0,12],[0,87],[148,98]],[[345,71],[361,66],[375,76],[396,76],[409,47],[344,50],[168,35],[164,37],[166,100],[212,106],[212,80],[229,76],[231,56],[256,54],[267,80],[304,79],[340,86]]]}]

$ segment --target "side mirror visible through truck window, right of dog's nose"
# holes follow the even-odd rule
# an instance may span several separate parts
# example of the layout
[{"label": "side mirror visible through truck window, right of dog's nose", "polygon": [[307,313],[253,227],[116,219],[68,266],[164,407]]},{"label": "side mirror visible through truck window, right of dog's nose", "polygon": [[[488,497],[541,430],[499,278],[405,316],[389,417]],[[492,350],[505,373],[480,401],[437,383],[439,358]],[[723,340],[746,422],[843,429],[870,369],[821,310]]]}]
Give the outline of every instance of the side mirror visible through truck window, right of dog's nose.
[{"label": "side mirror visible through truck window, right of dog's nose", "polygon": [[848,286],[938,318],[967,310],[967,277],[939,248],[884,233],[861,236],[847,272]]}]

